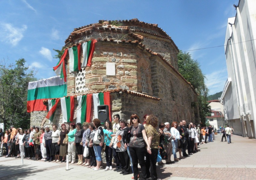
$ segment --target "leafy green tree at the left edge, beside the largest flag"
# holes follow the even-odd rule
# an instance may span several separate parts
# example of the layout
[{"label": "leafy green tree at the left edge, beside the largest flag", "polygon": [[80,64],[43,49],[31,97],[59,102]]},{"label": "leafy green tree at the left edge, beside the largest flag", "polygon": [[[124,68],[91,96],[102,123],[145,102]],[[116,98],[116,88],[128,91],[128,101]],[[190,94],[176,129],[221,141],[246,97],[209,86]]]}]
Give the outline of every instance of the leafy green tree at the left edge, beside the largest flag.
[{"label": "leafy green tree at the left edge, beside the largest flag", "polygon": [[0,62],[0,122],[4,128],[14,125],[18,128],[30,126],[30,114],[27,113],[27,89],[30,81],[35,81],[34,69],[25,66],[25,59],[15,64]]}]

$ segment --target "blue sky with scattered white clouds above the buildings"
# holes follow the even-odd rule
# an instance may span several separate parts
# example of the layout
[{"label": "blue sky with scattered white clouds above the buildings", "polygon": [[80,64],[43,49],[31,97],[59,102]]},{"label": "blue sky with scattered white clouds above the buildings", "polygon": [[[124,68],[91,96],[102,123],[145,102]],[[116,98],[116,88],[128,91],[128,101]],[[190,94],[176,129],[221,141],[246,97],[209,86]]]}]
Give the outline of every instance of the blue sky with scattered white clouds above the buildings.
[{"label": "blue sky with scattered white clouds above the buildings", "polygon": [[56,75],[52,67],[58,62],[53,58],[53,49],[61,49],[74,28],[101,19],[137,18],[158,24],[180,50],[189,52],[200,63],[212,95],[223,90],[228,77],[223,45],[227,19],[236,16],[233,4],[238,3],[239,0],[0,1],[0,60],[11,64],[24,58],[27,66],[37,70],[36,78],[49,78]]}]

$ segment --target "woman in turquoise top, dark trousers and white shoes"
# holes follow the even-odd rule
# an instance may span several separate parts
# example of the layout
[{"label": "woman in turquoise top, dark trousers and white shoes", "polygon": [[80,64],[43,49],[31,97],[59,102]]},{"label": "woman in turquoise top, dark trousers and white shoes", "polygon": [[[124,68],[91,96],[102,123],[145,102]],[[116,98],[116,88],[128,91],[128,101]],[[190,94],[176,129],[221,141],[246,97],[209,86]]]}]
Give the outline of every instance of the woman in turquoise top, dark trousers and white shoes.
[{"label": "woman in turquoise top, dark trousers and white shoes", "polygon": [[113,151],[113,149],[111,147],[109,147],[109,144],[111,142],[111,134],[113,134],[111,122],[109,122],[109,121],[105,122],[103,133],[105,134],[104,144],[105,144],[105,155],[106,155],[106,163],[107,163],[105,171],[108,171],[108,170],[112,170],[112,151]]}]

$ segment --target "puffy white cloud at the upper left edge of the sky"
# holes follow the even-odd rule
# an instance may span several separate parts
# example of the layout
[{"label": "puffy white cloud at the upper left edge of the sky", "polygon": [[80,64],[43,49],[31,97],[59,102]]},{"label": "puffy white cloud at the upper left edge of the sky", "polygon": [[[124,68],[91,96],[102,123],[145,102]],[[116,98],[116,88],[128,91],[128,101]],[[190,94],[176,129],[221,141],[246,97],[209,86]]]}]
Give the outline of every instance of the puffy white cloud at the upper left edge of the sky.
[{"label": "puffy white cloud at the upper left edge of the sky", "polygon": [[16,46],[23,38],[23,33],[27,30],[26,25],[22,25],[21,28],[14,27],[10,23],[0,24],[0,38],[2,42],[10,43]]}]

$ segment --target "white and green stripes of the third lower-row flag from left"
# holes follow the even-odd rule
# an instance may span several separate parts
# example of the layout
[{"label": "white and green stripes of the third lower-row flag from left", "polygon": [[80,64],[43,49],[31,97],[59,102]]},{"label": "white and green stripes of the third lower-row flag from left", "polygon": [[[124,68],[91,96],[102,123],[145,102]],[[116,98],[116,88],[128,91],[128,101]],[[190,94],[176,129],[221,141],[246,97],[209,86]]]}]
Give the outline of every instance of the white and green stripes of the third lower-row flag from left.
[{"label": "white and green stripes of the third lower-row flag from left", "polygon": [[86,119],[86,96],[87,95],[79,95],[77,96],[78,107],[76,108],[76,123],[80,122],[83,124]]}]

